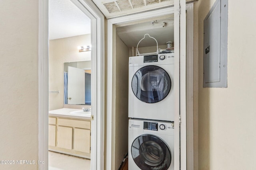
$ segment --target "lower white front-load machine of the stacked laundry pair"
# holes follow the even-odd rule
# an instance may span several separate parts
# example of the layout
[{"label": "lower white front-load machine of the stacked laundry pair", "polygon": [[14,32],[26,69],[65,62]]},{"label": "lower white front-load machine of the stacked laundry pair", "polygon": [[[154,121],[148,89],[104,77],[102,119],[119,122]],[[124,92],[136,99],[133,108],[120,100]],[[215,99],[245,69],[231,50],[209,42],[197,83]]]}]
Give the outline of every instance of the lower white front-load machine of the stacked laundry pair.
[{"label": "lower white front-load machine of the stacked laundry pair", "polygon": [[129,119],[129,170],[174,170],[174,123]]}]

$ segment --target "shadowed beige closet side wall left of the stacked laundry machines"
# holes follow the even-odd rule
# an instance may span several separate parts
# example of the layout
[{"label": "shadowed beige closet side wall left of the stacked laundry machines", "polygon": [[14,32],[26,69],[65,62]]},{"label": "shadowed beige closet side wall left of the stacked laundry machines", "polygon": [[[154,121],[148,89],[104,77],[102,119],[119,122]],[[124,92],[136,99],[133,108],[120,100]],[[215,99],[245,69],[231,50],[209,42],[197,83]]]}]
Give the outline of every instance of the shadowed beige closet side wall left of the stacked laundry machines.
[{"label": "shadowed beige closet side wall left of the stacked laundry machines", "polygon": [[118,170],[128,152],[128,60],[129,49],[116,35],[115,170]]}]

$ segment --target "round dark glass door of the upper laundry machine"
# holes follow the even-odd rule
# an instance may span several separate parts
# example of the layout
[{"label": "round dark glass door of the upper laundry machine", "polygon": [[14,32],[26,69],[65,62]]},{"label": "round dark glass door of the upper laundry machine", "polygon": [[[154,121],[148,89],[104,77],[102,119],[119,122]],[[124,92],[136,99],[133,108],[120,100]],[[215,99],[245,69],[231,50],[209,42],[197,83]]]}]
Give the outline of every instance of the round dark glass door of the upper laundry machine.
[{"label": "round dark glass door of the upper laundry machine", "polygon": [[170,89],[170,76],[159,66],[144,66],[132,78],[132,91],[142,102],[160,102],[166,98]]}]

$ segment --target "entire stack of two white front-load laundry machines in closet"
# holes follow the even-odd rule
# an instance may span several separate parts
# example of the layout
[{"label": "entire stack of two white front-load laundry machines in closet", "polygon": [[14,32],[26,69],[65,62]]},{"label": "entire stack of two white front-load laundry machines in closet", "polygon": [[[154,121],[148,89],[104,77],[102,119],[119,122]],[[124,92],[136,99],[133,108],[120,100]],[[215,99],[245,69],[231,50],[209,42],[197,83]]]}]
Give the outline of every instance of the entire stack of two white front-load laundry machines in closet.
[{"label": "entire stack of two white front-load laundry machines in closet", "polygon": [[174,170],[174,53],[129,57],[128,168]]}]

